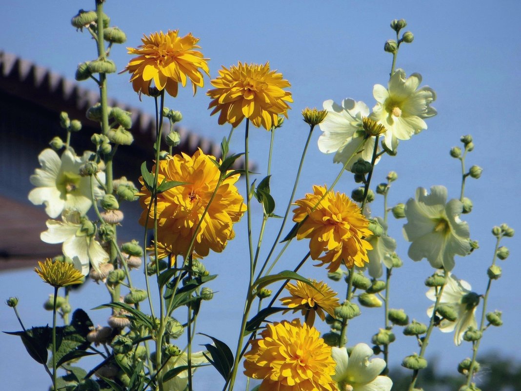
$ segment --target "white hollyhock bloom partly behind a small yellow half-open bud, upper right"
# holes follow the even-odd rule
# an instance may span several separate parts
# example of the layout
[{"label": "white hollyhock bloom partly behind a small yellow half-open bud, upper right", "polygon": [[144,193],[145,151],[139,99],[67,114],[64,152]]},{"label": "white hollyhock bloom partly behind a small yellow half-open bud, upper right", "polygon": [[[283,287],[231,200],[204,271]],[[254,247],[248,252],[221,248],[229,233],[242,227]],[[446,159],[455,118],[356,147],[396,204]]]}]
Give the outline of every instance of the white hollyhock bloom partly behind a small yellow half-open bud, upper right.
[{"label": "white hollyhock bloom partly behind a small yellow half-open bud, upper right", "polygon": [[369,116],[369,107],[362,101],[344,99],[342,106],[332,100],[324,102],[328,114],[319,124],[324,133],[318,138],[318,149],[324,153],[335,153],[333,161],[351,166],[358,158],[370,162],[375,148],[376,137],[369,137],[365,143],[366,132],[362,118]]}]

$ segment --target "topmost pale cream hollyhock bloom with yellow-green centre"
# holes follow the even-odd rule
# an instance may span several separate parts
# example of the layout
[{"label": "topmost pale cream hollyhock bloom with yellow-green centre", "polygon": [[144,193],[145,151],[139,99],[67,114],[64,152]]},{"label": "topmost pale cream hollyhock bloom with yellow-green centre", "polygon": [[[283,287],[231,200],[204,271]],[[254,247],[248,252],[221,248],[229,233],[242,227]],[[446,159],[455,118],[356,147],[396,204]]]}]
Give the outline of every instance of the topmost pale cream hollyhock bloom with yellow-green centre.
[{"label": "topmost pale cream hollyhock bloom with yellow-green centre", "polygon": [[403,69],[396,69],[389,79],[388,88],[376,84],[373,96],[377,104],[373,107],[371,118],[387,128],[384,143],[394,150],[398,140],[408,140],[415,133],[427,129],[424,118],[437,114],[429,105],[436,100],[436,92],[421,83],[420,74],[408,78]]}]

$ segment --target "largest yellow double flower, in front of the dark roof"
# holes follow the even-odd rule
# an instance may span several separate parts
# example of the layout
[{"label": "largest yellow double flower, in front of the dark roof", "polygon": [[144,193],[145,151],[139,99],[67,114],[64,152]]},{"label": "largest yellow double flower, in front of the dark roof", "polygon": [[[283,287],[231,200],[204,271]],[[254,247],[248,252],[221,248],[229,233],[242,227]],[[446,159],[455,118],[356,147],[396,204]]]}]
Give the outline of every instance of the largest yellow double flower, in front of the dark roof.
[{"label": "largest yellow double flower, in front of the dark roof", "polygon": [[[219,180],[220,172],[214,156],[205,155],[200,149],[193,156],[187,154],[167,156],[159,162],[158,184],[163,180],[187,182],[188,185],[173,187],[157,196],[157,241],[173,255],[188,255],[190,241],[195,234],[203,212],[208,205]],[[155,166],[152,168],[155,172]],[[239,174],[222,180],[214,200],[197,232],[194,252],[199,256],[208,255],[209,250],[221,252],[229,239],[233,239],[233,223],[246,210],[243,198],[235,182]],[[143,178],[140,178],[143,184]],[[138,193],[143,207],[140,223],[145,224],[146,212],[152,198],[145,186]],[[148,228],[154,225],[154,204],[152,203]]]}]

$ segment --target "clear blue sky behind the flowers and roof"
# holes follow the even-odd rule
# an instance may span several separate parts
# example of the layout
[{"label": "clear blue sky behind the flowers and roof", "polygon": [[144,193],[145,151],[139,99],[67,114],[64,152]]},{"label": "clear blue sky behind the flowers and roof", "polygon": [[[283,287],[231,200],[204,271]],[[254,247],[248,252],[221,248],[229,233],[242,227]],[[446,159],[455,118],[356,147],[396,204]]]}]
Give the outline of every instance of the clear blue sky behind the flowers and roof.
[{"label": "clear blue sky behind the flowers and roof", "polygon": [[[93,2],[60,0],[52,2],[52,8],[49,4],[28,1],[4,5],[5,15],[9,17],[0,24],[0,49],[73,79],[78,63],[94,59],[95,46],[88,33],[76,32],[69,21],[78,9],[90,9]],[[278,69],[291,82],[294,103],[289,112],[290,119],[276,135],[271,181],[280,213],[291,192],[292,178],[307,135],[301,110],[306,106],[321,107],[327,99],[340,102],[346,97],[362,100],[373,107],[373,85],[387,83],[391,65],[391,55],[382,50],[383,43],[393,38],[389,22],[394,18],[406,19],[406,30],[414,33],[415,40],[401,48],[398,67],[403,68],[407,75],[419,72],[423,84],[435,89],[438,99],[432,106],[439,114],[427,121],[427,130],[402,142],[396,157],[385,156],[381,160],[372,187],[383,181],[390,170],[395,170],[399,180],[391,189],[390,205],[413,197],[419,186],[444,185],[449,189],[449,197],[457,198],[460,166],[449,156],[449,150],[459,144],[460,136],[470,133],[476,149],[468,155],[467,165],[478,164],[484,170],[479,180],[469,179],[467,182],[466,195],[474,202],[474,211],[462,218],[469,223],[471,237],[479,241],[480,249],[465,258],[457,258],[454,274],[467,280],[473,290],[484,293],[486,270],[494,245],[490,229],[506,222],[518,228],[517,236],[521,235],[521,228],[517,226],[521,216],[517,201],[521,180],[518,170],[520,3],[221,1],[195,4],[128,0],[108,1],[105,10],[111,23],[127,33],[127,43],[111,51],[118,69],[123,69],[130,58],[124,46],[139,45],[143,33],[179,29],[182,35],[192,32],[201,39],[202,52],[211,59],[212,77],[217,76],[221,65],[229,67],[239,60],[254,63],[269,60],[271,67]],[[89,82],[82,85],[95,88]],[[195,97],[191,96],[191,89],[185,89],[177,99],[169,98],[166,105],[182,112],[182,126],[219,142],[228,134],[229,128],[218,126],[217,117],[209,116],[209,98],[205,96],[208,85],[207,79],[205,88]],[[128,75],[110,75],[109,96],[152,113],[152,101],[139,102],[128,83]],[[305,174],[297,190],[299,198],[311,191],[313,184],[331,183],[340,170],[340,166],[332,163],[331,155],[321,154],[316,148],[319,134],[317,129],[304,165]],[[232,141],[233,150],[243,149],[242,135],[243,126],[240,126]],[[251,137],[251,145],[254,145],[252,159],[257,162],[259,172],[265,173],[269,133],[254,129]],[[42,149],[44,147],[42,145]],[[144,159],[140,157],[140,160]],[[34,164],[36,167],[36,156]],[[354,187],[352,178],[344,175],[337,190],[349,194]],[[381,210],[382,200],[377,198],[373,214],[381,215]],[[258,205],[254,205],[253,216],[256,221],[262,217]],[[242,309],[237,298],[242,297],[246,289],[243,223],[236,228],[237,238],[229,243],[224,253],[208,257],[207,267],[212,273],[219,274],[212,285],[218,293],[212,302],[205,303],[206,315],[199,322],[201,332],[225,340],[230,346],[237,335]],[[272,222],[268,227],[267,243],[277,233],[276,223]],[[391,306],[404,308],[411,318],[426,322],[425,310],[430,301],[424,295],[423,281],[432,270],[427,261],[416,263],[407,258],[408,243],[401,234],[402,224],[403,221],[391,219],[389,228],[390,235],[399,241],[398,252],[404,261],[404,267],[394,275]],[[254,230],[256,227],[258,225],[254,225]],[[495,350],[519,360],[521,353],[515,344],[507,342],[507,338],[518,333],[521,321],[521,307],[515,291],[521,275],[518,262],[521,246],[518,237],[507,239],[503,244],[510,248],[511,255],[500,263],[503,277],[493,284],[489,310],[503,311],[504,326],[486,332],[480,351]],[[292,268],[306,253],[306,243],[293,245],[281,260],[280,270]],[[311,264],[302,274],[325,278],[325,271]],[[345,289],[340,283],[331,285],[341,292]],[[88,292],[85,294],[88,302],[83,304],[80,297],[74,297],[73,307],[81,305],[90,309],[108,301],[102,287],[89,284],[84,290]],[[51,322],[51,314],[42,309],[49,293],[48,286],[31,271],[0,274],[0,298],[20,297],[19,311],[27,325]],[[413,293],[414,300],[411,300]],[[82,296],[82,300],[85,297]],[[19,328],[14,314],[7,307],[0,311],[0,330]],[[95,323],[102,324],[108,316],[101,311],[90,311],[89,314]],[[364,310],[363,315],[351,323],[349,344],[370,343],[371,335],[383,323],[382,318],[381,310]],[[396,334],[398,340],[391,346],[391,366],[398,365],[405,355],[417,351],[412,338],[402,336],[399,328]],[[206,341],[201,339],[198,343]],[[0,357],[0,377],[5,380],[6,388],[46,388],[47,375],[30,359],[19,339],[2,334],[0,344],[3,351],[11,352]],[[428,356],[442,357],[443,367],[454,370],[457,362],[470,353],[468,344],[456,348],[452,334],[439,331],[433,333],[428,349]],[[220,381],[211,370],[203,371],[206,372],[201,382]],[[31,376],[24,376],[28,372]],[[206,388],[206,383],[200,384],[200,389]]]}]

